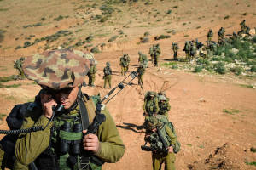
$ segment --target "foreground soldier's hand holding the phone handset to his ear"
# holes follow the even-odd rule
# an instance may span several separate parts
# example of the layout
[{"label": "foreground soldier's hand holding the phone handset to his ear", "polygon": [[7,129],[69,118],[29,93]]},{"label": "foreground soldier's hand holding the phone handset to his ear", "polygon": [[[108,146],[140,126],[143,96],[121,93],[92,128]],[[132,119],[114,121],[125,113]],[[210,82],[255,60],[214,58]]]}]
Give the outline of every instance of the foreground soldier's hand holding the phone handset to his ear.
[{"label": "foreground soldier's hand holding the phone handset to his ear", "polygon": [[40,94],[40,98],[41,98],[41,105],[43,107],[43,114],[47,118],[50,118],[53,113],[52,107],[57,106],[57,103],[56,103],[55,99],[53,99],[51,94],[42,93],[42,94]]}]

